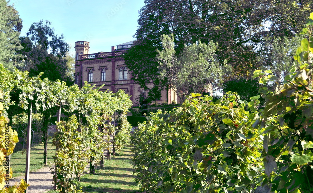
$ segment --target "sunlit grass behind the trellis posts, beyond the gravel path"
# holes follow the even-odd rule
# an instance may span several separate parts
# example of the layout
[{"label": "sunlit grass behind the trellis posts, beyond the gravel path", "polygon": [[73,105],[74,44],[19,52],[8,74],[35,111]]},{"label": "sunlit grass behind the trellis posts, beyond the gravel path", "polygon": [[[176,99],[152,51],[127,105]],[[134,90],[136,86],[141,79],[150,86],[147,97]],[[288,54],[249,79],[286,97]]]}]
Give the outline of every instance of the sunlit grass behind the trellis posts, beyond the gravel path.
[{"label": "sunlit grass behind the trellis posts, beyond the gravel path", "polygon": [[[11,167],[13,177],[25,176],[26,150],[23,151],[23,141],[16,143],[14,152],[11,155]],[[55,155],[55,147],[48,143],[48,163],[53,163],[52,156]],[[44,144],[36,144],[30,151],[30,171],[37,171],[44,167]]]}]

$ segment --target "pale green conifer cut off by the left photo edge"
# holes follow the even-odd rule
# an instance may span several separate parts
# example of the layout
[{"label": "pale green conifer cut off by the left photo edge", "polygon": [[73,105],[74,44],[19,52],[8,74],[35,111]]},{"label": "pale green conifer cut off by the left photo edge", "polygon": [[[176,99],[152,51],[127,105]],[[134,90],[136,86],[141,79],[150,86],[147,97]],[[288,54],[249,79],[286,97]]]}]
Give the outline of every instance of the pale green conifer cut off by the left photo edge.
[{"label": "pale green conifer cut off by the left photo edge", "polygon": [[0,0],[0,63],[10,70],[20,64],[21,55],[16,52],[22,49],[18,38],[21,30],[18,12],[6,0]]}]

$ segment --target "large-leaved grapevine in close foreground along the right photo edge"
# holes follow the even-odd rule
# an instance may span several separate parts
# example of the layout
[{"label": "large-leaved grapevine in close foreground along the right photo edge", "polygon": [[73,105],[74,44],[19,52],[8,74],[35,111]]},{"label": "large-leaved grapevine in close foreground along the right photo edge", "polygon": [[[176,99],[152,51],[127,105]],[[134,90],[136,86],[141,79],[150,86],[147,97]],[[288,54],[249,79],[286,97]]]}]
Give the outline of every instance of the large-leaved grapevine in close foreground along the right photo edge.
[{"label": "large-leaved grapevine in close foreground along the right photo edge", "polygon": [[[275,91],[261,87],[266,104],[259,126],[263,132],[263,156],[267,176],[260,189],[278,192],[313,190],[313,13],[302,34],[307,38],[297,49],[294,65]],[[254,72],[260,83],[275,81],[271,71]]]}]

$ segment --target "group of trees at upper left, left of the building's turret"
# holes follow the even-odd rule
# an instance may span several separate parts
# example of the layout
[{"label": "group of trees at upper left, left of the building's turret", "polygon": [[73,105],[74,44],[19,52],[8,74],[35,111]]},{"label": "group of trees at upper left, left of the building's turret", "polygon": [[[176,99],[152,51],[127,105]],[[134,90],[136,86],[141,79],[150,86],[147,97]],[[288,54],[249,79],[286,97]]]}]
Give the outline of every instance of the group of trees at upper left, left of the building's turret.
[{"label": "group of trees at upper left, left of the building's turret", "polygon": [[42,78],[74,83],[74,57],[69,53],[69,44],[63,34],[55,33],[49,21],[33,23],[26,36],[21,36],[23,24],[18,11],[1,0],[0,22],[0,63],[6,69],[28,71],[29,76],[44,72]]}]

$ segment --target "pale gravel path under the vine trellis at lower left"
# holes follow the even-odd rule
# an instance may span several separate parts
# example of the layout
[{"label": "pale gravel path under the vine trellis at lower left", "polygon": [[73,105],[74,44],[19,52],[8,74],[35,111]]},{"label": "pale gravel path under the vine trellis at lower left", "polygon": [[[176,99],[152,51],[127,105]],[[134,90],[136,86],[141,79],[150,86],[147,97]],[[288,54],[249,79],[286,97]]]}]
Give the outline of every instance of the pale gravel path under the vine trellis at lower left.
[{"label": "pale gravel path under the vine trellis at lower left", "polygon": [[[29,173],[29,185],[28,193],[42,193],[48,190],[54,189],[52,186],[53,175],[49,171],[49,167],[44,167],[38,171]],[[13,186],[15,182],[25,179],[25,176],[18,176],[10,179],[10,186]]]}]

